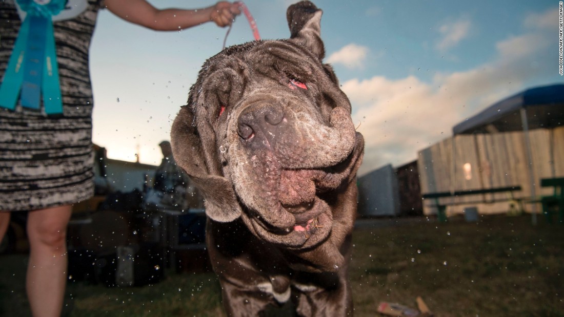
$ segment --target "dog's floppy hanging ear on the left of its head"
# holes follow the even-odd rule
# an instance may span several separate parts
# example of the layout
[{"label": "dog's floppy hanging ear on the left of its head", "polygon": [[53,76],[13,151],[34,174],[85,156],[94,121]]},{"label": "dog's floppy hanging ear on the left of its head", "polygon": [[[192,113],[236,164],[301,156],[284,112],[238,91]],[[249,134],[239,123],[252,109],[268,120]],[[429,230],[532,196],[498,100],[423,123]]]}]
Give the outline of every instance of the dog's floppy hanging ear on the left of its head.
[{"label": "dog's floppy hanging ear on the left of its head", "polygon": [[194,114],[188,106],[180,108],[170,131],[170,139],[178,166],[186,171],[204,195],[206,215],[219,222],[239,218],[241,207],[230,182],[225,177],[209,172],[206,149],[202,146]]}]

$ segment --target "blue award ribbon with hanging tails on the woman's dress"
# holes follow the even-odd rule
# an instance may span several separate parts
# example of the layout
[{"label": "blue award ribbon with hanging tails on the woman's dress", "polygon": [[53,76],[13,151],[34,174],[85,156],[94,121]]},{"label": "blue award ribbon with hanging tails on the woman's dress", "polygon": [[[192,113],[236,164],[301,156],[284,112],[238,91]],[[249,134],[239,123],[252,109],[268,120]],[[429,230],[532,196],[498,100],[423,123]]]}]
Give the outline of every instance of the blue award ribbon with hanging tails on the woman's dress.
[{"label": "blue award ribbon with hanging tails on the woman's dress", "polygon": [[63,113],[52,16],[58,15],[66,3],[17,0],[26,16],[0,86],[1,107],[14,110],[20,98],[21,106],[40,110],[43,95],[46,114]]}]

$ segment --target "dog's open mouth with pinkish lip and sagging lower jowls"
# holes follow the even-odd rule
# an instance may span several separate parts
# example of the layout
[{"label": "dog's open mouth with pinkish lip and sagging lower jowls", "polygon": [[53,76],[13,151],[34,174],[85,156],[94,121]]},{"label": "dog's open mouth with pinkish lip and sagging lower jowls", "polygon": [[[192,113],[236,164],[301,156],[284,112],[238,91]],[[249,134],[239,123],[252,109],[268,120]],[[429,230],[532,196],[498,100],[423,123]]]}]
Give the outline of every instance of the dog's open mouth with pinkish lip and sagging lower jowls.
[{"label": "dog's open mouth with pinkish lip and sagging lower jowls", "polygon": [[337,166],[324,169],[281,169],[277,199],[270,208],[243,213],[243,220],[256,235],[294,249],[314,247],[331,234],[333,213],[325,193],[335,195],[350,181],[360,151]]}]

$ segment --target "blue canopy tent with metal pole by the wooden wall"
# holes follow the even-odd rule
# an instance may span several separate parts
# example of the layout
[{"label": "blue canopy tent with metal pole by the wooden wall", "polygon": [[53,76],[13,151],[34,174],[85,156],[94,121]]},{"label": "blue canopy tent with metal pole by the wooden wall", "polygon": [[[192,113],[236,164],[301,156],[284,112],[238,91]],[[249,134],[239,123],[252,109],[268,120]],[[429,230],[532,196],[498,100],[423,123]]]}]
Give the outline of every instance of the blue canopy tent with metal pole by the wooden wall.
[{"label": "blue canopy tent with metal pole by the wooden wall", "polygon": [[[564,84],[535,87],[517,93],[484,109],[452,128],[453,135],[523,131],[528,169],[532,176],[532,154],[528,131],[564,126]],[[531,182],[534,183],[534,180]],[[531,197],[535,197],[531,184]],[[533,207],[535,208],[535,207]],[[536,224],[536,210],[532,213]]]}]

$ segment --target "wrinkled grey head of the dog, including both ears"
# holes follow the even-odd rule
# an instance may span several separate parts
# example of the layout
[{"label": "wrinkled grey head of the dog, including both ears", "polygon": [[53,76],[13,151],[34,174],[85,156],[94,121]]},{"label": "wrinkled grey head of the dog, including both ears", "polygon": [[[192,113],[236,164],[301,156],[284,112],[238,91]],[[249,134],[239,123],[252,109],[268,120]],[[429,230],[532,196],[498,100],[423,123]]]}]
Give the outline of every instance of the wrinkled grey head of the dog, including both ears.
[{"label": "wrinkled grey head of the dog, including both ears", "polygon": [[327,238],[323,195],[348,184],[362,156],[350,102],[321,63],[321,11],[303,12],[289,11],[292,39],[206,61],[173,126],[175,158],[202,187],[208,216],[241,216],[259,238],[290,248]]}]

